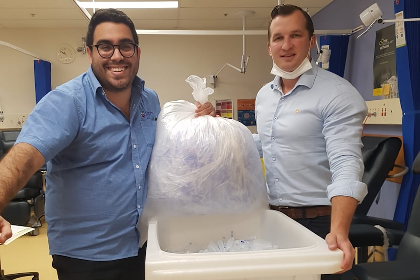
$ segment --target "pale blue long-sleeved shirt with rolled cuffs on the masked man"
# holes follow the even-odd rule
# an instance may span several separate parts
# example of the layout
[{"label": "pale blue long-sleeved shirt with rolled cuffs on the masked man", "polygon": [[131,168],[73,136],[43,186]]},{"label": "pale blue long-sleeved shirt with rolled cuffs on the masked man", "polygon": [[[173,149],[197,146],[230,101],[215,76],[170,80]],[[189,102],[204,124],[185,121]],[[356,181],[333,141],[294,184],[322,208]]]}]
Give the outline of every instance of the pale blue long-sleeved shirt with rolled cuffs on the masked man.
[{"label": "pale blue long-sleeved shirt with rolled cuffs on the masked man", "polygon": [[331,205],[334,196],[361,202],[362,123],[367,107],[345,79],[316,66],[283,93],[276,76],[257,94],[255,115],[271,205]]}]

